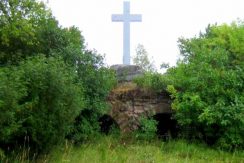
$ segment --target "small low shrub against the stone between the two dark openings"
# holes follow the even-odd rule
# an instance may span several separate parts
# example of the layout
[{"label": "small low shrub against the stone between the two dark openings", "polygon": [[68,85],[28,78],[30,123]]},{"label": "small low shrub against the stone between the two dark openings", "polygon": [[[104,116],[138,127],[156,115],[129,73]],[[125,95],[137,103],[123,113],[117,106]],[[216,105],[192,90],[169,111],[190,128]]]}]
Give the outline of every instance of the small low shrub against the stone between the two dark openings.
[{"label": "small low shrub against the stone between the two dark openings", "polygon": [[140,127],[138,131],[136,131],[136,138],[150,141],[156,137],[156,132],[156,120],[144,116],[140,118]]}]

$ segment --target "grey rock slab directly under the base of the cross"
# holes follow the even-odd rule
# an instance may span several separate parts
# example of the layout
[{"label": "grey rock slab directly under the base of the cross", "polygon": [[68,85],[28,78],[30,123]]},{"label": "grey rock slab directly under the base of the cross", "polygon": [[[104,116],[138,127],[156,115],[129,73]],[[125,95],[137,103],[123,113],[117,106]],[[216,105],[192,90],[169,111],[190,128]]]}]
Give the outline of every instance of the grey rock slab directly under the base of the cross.
[{"label": "grey rock slab directly under the base of the cross", "polygon": [[116,71],[119,82],[132,81],[135,77],[143,75],[143,71],[136,65],[113,65],[110,67]]}]

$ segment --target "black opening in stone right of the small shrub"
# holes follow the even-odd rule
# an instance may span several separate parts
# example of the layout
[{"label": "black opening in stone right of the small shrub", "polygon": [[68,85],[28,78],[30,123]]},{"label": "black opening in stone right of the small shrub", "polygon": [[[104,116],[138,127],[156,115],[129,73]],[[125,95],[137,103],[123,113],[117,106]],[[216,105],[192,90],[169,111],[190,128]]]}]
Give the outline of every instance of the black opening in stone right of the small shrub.
[{"label": "black opening in stone right of the small shrub", "polygon": [[172,119],[172,114],[159,113],[153,116],[157,124],[157,135],[162,139],[175,138],[177,136],[176,120]]}]

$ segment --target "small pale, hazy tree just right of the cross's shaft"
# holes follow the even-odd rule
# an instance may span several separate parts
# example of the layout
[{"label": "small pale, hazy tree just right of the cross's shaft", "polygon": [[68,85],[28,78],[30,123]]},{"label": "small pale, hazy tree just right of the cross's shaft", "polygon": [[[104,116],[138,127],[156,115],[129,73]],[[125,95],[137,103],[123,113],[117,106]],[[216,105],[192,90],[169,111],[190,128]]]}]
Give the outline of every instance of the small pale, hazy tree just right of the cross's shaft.
[{"label": "small pale, hazy tree just right of the cross's shaft", "polygon": [[140,66],[144,71],[155,71],[155,66],[148,58],[148,53],[143,45],[136,47],[136,56],[133,58],[134,64]]}]

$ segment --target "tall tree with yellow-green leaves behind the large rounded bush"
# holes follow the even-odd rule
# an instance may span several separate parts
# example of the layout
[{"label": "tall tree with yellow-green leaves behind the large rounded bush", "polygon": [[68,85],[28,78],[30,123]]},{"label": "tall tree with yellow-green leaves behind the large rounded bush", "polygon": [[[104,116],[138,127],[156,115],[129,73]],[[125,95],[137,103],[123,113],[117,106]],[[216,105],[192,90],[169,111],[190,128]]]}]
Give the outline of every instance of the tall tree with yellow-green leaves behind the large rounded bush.
[{"label": "tall tree with yellow-green leaves behind the large rounded bush", "polygon": [[[18,64],[30,56],[63,55],[66,62],[84,49],[75,28],[61,28],[43,3],[34,0],[0,2],[0,65]],[[71,58],[72,57],[72,58]]]}]

